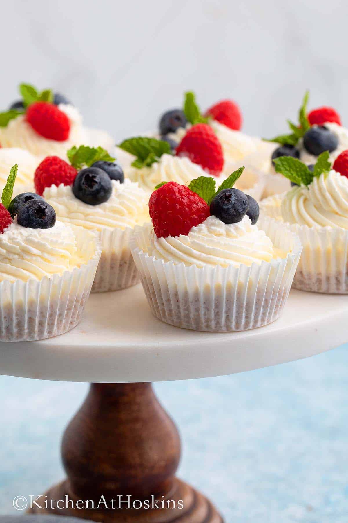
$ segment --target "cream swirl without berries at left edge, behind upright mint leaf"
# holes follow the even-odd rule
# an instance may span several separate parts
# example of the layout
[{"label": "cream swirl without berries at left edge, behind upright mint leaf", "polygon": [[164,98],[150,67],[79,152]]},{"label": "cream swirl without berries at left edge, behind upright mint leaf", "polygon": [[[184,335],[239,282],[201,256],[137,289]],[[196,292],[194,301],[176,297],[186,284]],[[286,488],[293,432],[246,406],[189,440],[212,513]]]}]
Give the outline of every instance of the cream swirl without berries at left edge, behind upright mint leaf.
[{"label": "cream swirl without berries at left edge, behind upright mint leaf", "polygon": [[11,167],[18,164],[16,185],[29,185],[33,183],[34,172],[40,163],[39,158],[19,147],[0,148],[0,186],[4,187]]}]

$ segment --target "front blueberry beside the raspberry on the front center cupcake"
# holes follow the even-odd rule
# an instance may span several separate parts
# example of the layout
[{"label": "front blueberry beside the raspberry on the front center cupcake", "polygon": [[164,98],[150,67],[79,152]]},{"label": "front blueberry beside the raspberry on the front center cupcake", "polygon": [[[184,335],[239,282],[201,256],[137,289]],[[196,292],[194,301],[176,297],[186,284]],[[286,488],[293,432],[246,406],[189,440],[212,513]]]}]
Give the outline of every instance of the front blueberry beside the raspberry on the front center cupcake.
[{"label": "front blueberry beside the raspberry on the front center cupcake", "polygon": [[239,189],[223,189],[210,203],[210,214],[224,223],[237,223],[243,220],[248,210],[249,200]]}]

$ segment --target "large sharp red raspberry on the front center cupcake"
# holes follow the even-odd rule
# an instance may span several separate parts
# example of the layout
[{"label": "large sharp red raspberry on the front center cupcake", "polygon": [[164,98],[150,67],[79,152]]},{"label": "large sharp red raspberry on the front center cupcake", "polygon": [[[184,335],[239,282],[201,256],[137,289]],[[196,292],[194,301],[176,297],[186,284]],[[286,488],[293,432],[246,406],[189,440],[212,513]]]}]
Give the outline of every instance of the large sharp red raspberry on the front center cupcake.
[{"label": "large sharp red raspberry on the front center cupcake", "polygon": [[152,193],[149,210],[154,232],[159,238],[187,235],[191,227],[210,215],[208,203],[176,181],[169,181]]}]

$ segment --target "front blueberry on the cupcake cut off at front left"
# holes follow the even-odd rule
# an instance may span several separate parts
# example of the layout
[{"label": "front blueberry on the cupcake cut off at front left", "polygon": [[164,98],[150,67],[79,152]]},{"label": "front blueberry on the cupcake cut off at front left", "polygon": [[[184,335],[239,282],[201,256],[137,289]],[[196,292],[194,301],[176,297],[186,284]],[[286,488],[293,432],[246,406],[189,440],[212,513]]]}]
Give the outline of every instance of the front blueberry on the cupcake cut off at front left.
[{"label": "front blueberry on the cupcake cut off at front left", "polygon": [[29,200],[17,212],[17,223],[30,229],[51,229],[55,222],[55,210],[43,199]]}]

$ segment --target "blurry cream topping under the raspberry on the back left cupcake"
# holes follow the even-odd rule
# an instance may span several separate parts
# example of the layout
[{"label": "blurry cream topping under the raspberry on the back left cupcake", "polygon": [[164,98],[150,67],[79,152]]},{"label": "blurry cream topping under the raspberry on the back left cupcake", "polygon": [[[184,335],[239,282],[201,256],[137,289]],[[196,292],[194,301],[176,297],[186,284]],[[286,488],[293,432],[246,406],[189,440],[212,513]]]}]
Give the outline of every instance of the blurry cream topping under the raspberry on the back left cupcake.
[{"label": "blurry cream topping under the raspberry on the back left cupcake", "polygon": [[58,108],[65,112],[70,120],[70,133],[66,141],[57,142],[42,137],[26,121],[26,115],[21,115],[10,120],[7,127],[0,128],[2,147],[20,147],[40,158],[56,155],[65,159],[70,147],[85,143],[86,134],[82,127],[81,115],[75,107],[59,104]]}]

